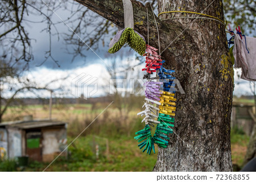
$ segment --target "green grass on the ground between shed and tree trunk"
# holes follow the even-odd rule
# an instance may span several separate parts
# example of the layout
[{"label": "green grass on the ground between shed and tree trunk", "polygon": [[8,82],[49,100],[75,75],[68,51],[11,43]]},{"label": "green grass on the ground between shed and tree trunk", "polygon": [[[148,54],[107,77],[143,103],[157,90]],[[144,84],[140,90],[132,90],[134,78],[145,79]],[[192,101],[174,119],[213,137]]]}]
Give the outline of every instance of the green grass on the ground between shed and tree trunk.
[{"label": "green grass on the ground between shed and tree trunk", "polygon": [[[73,138],[68,138],[70,143]],[[60,157],[46,171],[152,171],[156,154],[142,152],[133,137],[109,138],[109,155],[106,155],[106,139],[89,135],[79,137],[68,148],[68,158]],[[94,141],[94,142],[93,142]],[[96,159],[94,147],[99,146]],[[156,147],[157,148],[157,147]],[[16,167],[13,161],[6,161],[0,171],[43,171],[49,163],[30,162],[26,168]]]}]

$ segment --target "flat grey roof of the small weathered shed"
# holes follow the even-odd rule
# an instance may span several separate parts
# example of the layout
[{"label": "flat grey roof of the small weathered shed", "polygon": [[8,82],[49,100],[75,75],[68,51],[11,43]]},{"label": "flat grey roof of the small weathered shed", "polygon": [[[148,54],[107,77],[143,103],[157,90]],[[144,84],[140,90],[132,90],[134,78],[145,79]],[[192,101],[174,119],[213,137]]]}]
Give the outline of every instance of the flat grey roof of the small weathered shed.
[{"label": "flat grey roof of the small weathered shed", "polygon": [[65,124],[66,124],[65,122],[52,121],[49,119],[37,119],[32,121],[3,122],[3,123],[0,123],[0,126],[16,127],[19,129],[34,129],[39,127],[58,126],[58,125],[65,125]]}]

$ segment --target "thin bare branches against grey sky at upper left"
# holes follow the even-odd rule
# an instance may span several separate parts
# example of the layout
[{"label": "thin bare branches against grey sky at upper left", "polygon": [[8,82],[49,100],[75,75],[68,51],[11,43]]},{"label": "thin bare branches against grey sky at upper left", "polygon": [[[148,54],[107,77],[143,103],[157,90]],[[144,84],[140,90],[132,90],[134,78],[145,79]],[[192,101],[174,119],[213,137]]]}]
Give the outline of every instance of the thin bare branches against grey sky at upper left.
[{"label": "thin bare branches against grey sky at upper left", "polygon": [[[152,1],[152,5],[156,5],[156,0]],[[11,63],[11,67],[22,62],[20,67],[28,69],[30,61],[34,60],[32,43],[36,42],[36,38],[28,32],[30,27],[38,24],[45,26],[42,31],[48,34],[49,43],[48,49],[42,50],[45,51],[44,59],[36,60],[38,66],[46,61],[61,66],[52,53],[53,38],[64,41],[64,48],[74,61],[77,57],[86,57],[85,53],[90,48],[96,50],[105,46],[105,36],[113,36],[117,31],[112,22],[75,1],[3,0],[0,6],[0,54]],[[58,16],[59,11],[68,16]],[[68,26],[69,31],[59,30],[60,24]]]}]

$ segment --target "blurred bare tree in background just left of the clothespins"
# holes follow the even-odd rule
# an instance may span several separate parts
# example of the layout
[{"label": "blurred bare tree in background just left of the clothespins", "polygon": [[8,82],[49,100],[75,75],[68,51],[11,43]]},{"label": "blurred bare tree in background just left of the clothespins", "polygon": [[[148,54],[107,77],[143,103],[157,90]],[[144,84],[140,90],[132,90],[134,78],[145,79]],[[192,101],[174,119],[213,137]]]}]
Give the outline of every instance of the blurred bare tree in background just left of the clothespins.
[{"label": "blurred bare tree in background just left of the clothespins", "polygon": [[[106,80],[106,93],[109,94],[110,89],[114,89],[112,90],[113,94],[109,94],[109,97],[114,101],[112,105],[118,109],[119,117],[122,118],[122,121],[126,122],[129,117],[128,114],[135,107],[138,107],[139,98],[142,96],[142,94],[137,94],[137,92],[138,89],[143,89],[143,85],[135,79],[140,78],[138,76],[140,72],[136,73],[134,68],[142,64],[144,60],[134,60],[134,57],[131,56],[131,51],[120,50],[120,52],[119,57],[106,55],[109,59],[106,69],[110,76],[110,80]],[[116,82],[115,80],[118,81]],[[126,90],[120,92],[118,91],[119,88]]]}]

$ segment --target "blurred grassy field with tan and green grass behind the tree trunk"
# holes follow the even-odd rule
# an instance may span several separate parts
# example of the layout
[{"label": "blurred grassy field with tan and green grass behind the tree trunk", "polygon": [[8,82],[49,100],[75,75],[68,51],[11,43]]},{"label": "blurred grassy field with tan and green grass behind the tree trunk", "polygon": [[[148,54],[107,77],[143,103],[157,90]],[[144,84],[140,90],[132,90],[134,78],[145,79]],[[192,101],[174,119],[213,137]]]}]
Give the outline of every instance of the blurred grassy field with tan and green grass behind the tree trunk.
[{"label": "blurred grassy field with tan and green grass behind the tree trunk", "polygon": [[[137,98],[141,100],[141,98]],[[234,101],[241,102],[238,98]],[[241,103],[251,103],[242,100]],[[54,104],[52,118],[68,122],[68,142],[71,143],[90,123],[108,106],[105,104]],[[34,118],[48,118],[48,105],[10,106],[3,121],[11,118],[22,119],[32,114]],[[125,107],[125,105],[122,105]],[[137,147],[133,139],[135,132],[143,129],[134,106],[128,113],[115,105],[104,111],[79,138],[68,147],[68,157],[60,156],[46,171],[152,171],[157,159],[156,154],[147,155]],[[232,160],[234,171],[242,168],[249,135],[242,127],[234,126],[231,132]],[[157,148],[157,147],[156,147]],[[0,162],[0,171],[43,171],[49,163],[30,161],[27,167],[18,167],[15,160]]]}]

